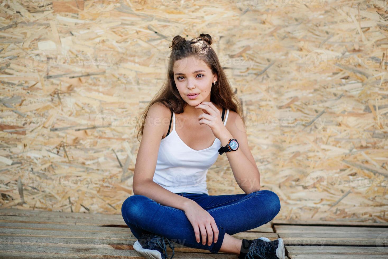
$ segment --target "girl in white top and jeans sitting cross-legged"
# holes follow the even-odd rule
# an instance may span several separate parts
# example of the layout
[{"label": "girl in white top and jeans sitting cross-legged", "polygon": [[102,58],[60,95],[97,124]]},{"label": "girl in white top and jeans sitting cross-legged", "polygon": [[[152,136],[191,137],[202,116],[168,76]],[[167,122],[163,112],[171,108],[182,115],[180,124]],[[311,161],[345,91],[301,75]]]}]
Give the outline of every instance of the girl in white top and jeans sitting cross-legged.
[{"label": "girl in white top and jeans sitting cross-legged", "polygon": [[[223,72],[211,36],[172,41],[166,83],[143,112],[133,194],[121,213],[146,258],[167,258],[166,242],[226,252],[239,258],[284,259],[283,240],[231,235],[271,221],[276,193],[260,190],[238,98]],[[168,123],[168,121],[170,123]],[[209,195],[208,168],[226,155],[244,194]]]}]

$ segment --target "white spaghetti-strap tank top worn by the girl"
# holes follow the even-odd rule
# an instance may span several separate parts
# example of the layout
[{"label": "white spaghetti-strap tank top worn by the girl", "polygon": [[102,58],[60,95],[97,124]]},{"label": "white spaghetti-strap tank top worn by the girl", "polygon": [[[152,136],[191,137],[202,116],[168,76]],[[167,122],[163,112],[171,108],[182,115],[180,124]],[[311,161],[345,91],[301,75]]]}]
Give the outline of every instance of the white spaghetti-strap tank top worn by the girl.
[{"label": "white spaghetti-strap tank top worn by the girl", "polygon": [[[226,111],[226,125],[229,109]],[[161,140],[158,161],[153,181],[173,192],[208,193],[206,173],[217,160],[221,141],[215,138],[213,144],[202,150],[187,146],[175,131],[175,113],[173,129]]]}]

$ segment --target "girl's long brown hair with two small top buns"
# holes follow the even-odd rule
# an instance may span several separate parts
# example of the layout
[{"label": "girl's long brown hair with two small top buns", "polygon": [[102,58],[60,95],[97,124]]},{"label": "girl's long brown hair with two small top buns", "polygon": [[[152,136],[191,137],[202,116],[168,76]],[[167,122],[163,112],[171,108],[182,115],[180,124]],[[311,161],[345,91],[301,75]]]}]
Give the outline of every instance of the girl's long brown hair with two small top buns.
[{"label": "girl's long brown hair with two small top buns", "polygon": [[177,86],[175,85],[173,65],[175,61],[191,56],[203,60],[211,69],[211,72],[217,74],[217,82],[215,85],[211,86],[210,102],[217,104],[222,108],[237,112],[241,116],[245,126],[241,104],[223,72],[217,54],[214,52],[213,48],[210,47],[212,42],[211,36],[206,33],[201,33],[198,37],[191,40],[186,40],[180,35],[173,38],[172,45],[170,46],[170,48],[172,48],[171,54],[168,57],[168,76],[163,87],[156,93],[154,98],[152,98],[151,102],[140,116],[142,123],[137,133],[137,140],[139,140],[139,135],[143,136],[145,119],[147,118],[148,110],[152,104],[159,102],[168,107],[171,112],[178,114],[184,112],[186,102],[180,96]]}]

